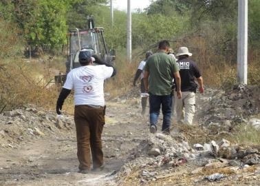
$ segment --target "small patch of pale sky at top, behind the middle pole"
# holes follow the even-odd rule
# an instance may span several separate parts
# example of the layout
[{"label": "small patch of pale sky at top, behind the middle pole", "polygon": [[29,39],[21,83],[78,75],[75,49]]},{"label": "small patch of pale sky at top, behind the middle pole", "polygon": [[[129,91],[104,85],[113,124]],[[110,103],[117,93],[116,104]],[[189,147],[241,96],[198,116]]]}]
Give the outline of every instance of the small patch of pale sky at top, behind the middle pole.
[{"label": "small patch of pale sky at top, behind the middle pole", "polygon": [[[150,0],[131,0],[131,10],[136,8],[144,9],[150,4]],[[127,11],[127,0],[113,0],[113,7],[118,10]]]}]

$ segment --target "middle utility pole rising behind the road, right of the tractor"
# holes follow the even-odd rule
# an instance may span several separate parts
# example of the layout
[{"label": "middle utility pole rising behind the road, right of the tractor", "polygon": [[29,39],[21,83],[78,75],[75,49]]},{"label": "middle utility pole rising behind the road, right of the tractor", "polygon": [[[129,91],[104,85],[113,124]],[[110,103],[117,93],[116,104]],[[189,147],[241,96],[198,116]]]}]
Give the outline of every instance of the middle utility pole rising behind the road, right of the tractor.
[{"label": "middle utility pole rising behind the road, right of the tractor", "polygon": [[132,17],[131,17],[131,0],[127,0],[127,60],[132,60]]}]

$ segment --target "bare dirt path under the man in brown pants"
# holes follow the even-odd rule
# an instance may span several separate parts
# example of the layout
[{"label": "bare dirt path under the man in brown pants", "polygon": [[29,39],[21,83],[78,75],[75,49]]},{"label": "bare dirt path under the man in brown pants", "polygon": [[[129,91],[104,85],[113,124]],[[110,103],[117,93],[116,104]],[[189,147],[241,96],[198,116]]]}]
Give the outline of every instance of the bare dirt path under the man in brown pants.
[{"label": "bare dirt path under the man in brown pants", "polygon": [[[78,174],[76,134],[67,138],[36,138],[19,148],[2,149],[0,185],[113,185],[114,171],[124,164],[129,149],[147,132],[147,117],[129,104],[107,103],[103,132],[106,168],[102,172]],[[136,105],[136,104],[135,104]]]}]

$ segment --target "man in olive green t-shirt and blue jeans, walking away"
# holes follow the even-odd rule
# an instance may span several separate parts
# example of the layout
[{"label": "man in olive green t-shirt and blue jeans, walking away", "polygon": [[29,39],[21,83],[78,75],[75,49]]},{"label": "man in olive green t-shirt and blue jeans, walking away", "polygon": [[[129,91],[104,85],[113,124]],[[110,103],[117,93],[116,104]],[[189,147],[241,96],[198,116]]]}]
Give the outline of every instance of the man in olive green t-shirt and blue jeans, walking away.
[{"label": "man in olive green t-shirt and blue jeans, walking away", "polygon": [[176,80],[178,99],[182,98],[180,68],[176,61],[166,54],[169,47],[168,41],[160,41],[159,52],[150,56],[144,67],[144,88],[146,92],[149,92],[151,133],[157,131],[156,125],[161,105],[163,114],[162,132],[170,133],[173,77]]}]

